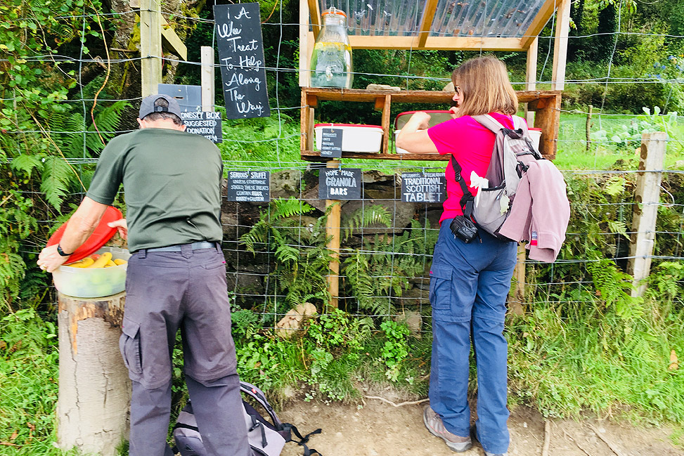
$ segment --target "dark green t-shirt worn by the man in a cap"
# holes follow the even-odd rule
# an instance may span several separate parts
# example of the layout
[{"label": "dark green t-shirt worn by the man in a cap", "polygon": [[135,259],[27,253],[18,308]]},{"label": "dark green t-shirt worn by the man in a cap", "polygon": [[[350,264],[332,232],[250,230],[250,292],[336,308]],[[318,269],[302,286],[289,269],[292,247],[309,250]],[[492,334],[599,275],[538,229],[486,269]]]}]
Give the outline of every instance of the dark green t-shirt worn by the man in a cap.
[{"label": "dark green t-shirt worn by the man in a cap", "polygon": [[128,245],[139,249],[221,241],[221,153],[211,141],[170,129],[112,139],[87,196],[112,204],[124,184]]}]

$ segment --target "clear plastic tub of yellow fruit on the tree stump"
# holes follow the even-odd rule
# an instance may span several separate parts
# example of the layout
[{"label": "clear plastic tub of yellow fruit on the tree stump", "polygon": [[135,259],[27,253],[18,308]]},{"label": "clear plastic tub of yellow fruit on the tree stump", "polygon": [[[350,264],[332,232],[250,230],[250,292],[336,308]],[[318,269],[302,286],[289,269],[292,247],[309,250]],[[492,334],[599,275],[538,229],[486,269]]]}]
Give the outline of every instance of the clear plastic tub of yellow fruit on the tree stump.
[{"label": "clear plastic tub of yellow fruit on the tree stump", "polygon": [[[128,261],[131,256],[127,249],[117,247],[101,247],[95,253],[104,252],[112,252],[112,259]],[[127,266],[128,263],[96,269],[60,266],[52,278],[59,292],[76,298],[99,298],[124,291]]]}]

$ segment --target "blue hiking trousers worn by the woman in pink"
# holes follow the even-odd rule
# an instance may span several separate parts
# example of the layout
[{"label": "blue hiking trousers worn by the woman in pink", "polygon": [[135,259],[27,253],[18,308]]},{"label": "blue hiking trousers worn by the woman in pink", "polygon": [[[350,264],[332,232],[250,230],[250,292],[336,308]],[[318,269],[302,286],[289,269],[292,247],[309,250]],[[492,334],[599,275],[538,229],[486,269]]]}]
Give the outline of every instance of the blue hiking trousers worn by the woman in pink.
[{"label": "blue hiking trousers worn by the woman in pink", "polygon": [[503,337],[506,296],[517,243],[479,230],[470,244],[442,221],[430,270],[432,364],[430,406],[447,430],[470,435],[467,401],[470,341],[477,365],[477,438],[491,453],[508,450],[508,343]]}]

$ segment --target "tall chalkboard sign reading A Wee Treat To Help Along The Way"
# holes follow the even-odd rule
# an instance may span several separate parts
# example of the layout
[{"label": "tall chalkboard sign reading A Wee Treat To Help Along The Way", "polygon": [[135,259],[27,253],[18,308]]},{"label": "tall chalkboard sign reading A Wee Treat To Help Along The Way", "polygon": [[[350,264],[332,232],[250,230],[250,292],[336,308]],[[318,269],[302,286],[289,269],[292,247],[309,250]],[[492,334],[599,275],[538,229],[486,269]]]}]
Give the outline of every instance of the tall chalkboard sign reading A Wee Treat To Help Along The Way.
[{"label": "tall chalkboard sign reading A Wee Treat To Help Along The Way", "polygon": [[226,119],[269,117],[259,4],[214,5]]}]

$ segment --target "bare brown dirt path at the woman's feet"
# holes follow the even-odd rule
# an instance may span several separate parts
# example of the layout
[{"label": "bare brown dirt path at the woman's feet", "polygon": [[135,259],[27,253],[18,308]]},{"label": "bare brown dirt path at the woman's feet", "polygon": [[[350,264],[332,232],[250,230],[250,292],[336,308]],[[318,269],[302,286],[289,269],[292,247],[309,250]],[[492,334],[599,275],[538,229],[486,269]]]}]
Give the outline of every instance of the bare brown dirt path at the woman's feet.
[{"label": "bare brown dirt path at the woman's feet", "polygon": [[[422,424],[425,404],[395,408],[379,400],[366,405],[325,405],[297,401],[280,416],[300,431],[320,427],[310,446],[324,456],[452,456],[455,453]],[[517,408],[508,424],[509,455],[542,456],[545,420],[529,408]],[[684,456],[669,440],[670,429],[637,428],[597,419],[574,422],[554,419],[549,424],[548,456]],[[288,443],[283,456],[301,455],[302,448]],[[464,456],[482,456],[476,443]]]}]

